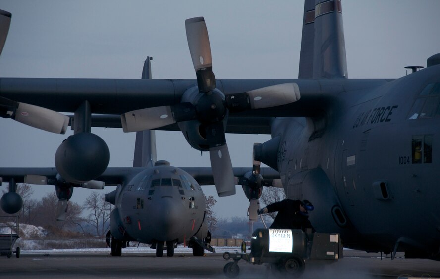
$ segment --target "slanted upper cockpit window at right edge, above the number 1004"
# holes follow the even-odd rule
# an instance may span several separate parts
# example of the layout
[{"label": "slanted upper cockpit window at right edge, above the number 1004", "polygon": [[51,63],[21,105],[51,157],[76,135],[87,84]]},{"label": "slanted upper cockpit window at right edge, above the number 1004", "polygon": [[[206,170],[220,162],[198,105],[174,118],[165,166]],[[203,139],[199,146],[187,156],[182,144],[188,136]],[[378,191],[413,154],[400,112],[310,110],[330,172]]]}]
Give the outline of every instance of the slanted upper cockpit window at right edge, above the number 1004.
[{"label": "slanted upper cockpit window at right edge, above the number 1004", "polygon": [[[440,83],[428,84],[414,101],[408,119],[430,118],[440,115]],[[439,107],[439,108],[438,108]]]}]

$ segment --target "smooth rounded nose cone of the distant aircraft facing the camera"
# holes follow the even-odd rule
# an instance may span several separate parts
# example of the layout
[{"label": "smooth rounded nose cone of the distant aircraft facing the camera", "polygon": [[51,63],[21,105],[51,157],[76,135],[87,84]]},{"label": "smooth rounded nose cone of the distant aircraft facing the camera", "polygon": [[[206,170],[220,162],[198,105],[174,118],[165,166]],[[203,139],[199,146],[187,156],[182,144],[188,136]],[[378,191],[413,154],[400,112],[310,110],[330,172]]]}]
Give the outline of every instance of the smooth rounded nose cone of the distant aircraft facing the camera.
[{"label": "smooth rounded nose cone of the distant aircraft facing the camera", "polygon": [[155,200],[150,208],[150,225],[155,228],[154,239],[168,241],[178,238],[185,218],[182,204],[170,196]]}]

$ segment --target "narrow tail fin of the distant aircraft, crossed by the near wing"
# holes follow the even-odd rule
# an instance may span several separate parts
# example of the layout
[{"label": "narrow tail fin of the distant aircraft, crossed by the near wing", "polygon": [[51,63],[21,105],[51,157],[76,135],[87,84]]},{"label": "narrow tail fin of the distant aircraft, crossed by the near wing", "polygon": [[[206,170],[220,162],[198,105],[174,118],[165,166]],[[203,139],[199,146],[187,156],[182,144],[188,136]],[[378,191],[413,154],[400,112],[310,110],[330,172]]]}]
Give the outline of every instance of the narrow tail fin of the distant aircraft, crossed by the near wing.
[{"label": "narrow tail fin of the distant aircraft, crossed by the near wing", "polygon": [[[153,60],[153,57],[147,56],[142,70],[142,79],[151,79],[151,60]],[[133,167],[153,167],[156,161],[155,131],[145,130],[136,132]]]}]

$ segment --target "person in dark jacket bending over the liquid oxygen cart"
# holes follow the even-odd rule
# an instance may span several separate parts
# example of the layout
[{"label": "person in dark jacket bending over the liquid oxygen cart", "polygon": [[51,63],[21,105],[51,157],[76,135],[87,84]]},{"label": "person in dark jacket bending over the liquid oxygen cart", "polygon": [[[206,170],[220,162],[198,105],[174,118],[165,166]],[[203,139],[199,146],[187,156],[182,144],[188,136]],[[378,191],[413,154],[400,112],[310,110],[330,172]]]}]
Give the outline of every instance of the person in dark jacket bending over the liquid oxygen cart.
[{"label": "person in dark jacket bending over the liquid oxygen cart", "polygon": [[308,214],[308,211],[312,210],[312,203],[306,199],[302,201],[285,199],[259,209],[258,214],[278,211],[274,222],[269,227],[271,229],[301,229],[305,232],[307,228],[310,228],[314,233],[315,229],[309,221]]}]

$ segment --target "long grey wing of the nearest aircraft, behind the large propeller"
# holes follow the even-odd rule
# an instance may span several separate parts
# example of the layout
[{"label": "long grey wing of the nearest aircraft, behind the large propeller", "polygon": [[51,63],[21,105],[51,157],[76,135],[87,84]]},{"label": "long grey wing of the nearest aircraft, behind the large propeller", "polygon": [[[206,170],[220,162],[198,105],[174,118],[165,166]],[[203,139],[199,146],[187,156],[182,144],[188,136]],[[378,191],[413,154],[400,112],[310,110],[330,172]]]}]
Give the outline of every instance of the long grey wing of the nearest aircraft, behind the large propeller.
[{"label": "long grey wing of the nearest aircraft, behind the large propeller", "polygon": [[[234,113],[237,117],[316,116],[337,94],[367,89],[388,80],[356,79],[218,79],[225,96],[286,83],[295,83],[300,100],[273,108]],[[88,101],[92,113],[123,114],[129,111],[178,104],[196,80],[0,78],[0,96],[57,112],[75,112]],[[4,100],[0,98],[0,105]]]}]

